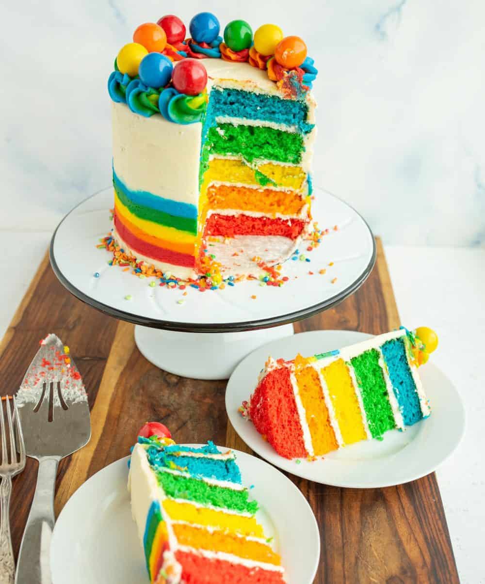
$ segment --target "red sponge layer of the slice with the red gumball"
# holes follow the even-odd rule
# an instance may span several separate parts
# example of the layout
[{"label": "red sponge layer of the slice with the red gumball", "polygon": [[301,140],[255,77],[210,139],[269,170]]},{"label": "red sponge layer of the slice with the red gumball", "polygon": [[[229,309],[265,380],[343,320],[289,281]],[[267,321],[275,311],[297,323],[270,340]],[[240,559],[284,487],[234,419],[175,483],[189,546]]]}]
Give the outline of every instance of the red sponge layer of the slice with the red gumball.
[{"label": "red sponge layer of the slice with the red gumball", "polygon": [[223,559],[209,559],[199,554],[176,551],[182,565],[185,584],[284,584],[281,572],[262,568],[246,568]]}]

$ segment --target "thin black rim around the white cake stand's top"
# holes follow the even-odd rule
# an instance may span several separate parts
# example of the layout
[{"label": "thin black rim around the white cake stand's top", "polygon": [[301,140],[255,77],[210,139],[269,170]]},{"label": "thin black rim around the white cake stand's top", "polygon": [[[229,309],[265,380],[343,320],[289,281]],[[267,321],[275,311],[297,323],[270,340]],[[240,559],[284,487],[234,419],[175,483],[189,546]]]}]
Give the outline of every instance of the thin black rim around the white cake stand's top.
[{"label": "thin black rim around the white cake stand's top", "polygon": [[[356,214],[359,215],[363,223],[369,230],[369,234],[372,239],[372,255],[370,257],[370,261],[365,270],[363,270],[362,274],[356,278],[356,280],[345,290],[342,290],[341,293],[335,294],[331,298],[327,298],[326,300],[313,304],[308,308],[302,308],[302,310],[296,310],[295,312],[289,312],[288,314],[278,315],[277,317],[271,318],[260,318],[257,320],[250,320],[244,322],[225,322],[223,324],[207,324],[207,323],[200,323],[200,322],[176,322],[176,321],[163,321],[159,319],[153,319],[148,317],[140,317],[136,314],[131,314],[131,312],[126,312],[124,310],[118,310],[117,308],[113,308],[107,304],[103,304],[95,300],[91,296],[88,296],[75,286],[71,284],[71,282],[64,276],[63,272],[61,272],[59,266],[57,265],[56,258],[54,257],[54,241],[56,240],[56,235],[58,229],[64,223],[64,221],[69,217],[71,213],[73,213],[79,206],[85,203],[88,199],[92,199],[92,197],[97,196],[98,194],[102,193],[106,189],[102,189],[97,193],[92,194],[86,199],[82,200],[81,203],[77,204],[74,208],[69,211],[67,215],[61,220],[61,222],[57,225],[56,231],[51,238],[50,245],[49,245],[49,259],[52,269],[54,270],[54,274],[56,274],[57,279],[60,283],[78,300],[88,304],[89,306],[96,308],[100,312],[109,315],[110,317],[117,318],[122,321],[131,322],[135,325],[141,326],[148,326],[150,328],[157,328],[157,329],[165,329],[166,331],[177,331],[177,332],[205,332],[205,333],[221,333],[221,332],[248,332],[248,331],[257,331],[258,329],[265,329],[265,328],[272,328],[273,326],[282,326],[286,324],[292,324],[293,322],[301,321],[304,318],[310,318],[314,315],[318,314],[318,312],[323,312],[324,310],[328,310],[329,308],[333,308],[344,301],[346,298],[354,294],[358,288],[362,286],[362,284],[368,279],[370,272],[372,272],[373,267],[376,263],[377,251],[376,251],[376,240],[370,229],[367,221],[362,217],[361,214],[355,211],[354,207],[351,207],[345,201],[342,201],[347,207],[350,207]],[[324,189],[323,189],[324,190]],[[330,194],[335,199],[339,199],[339,197],[335,196],[334,194],[325,191],[326,193]],[[339,199],[341,200],[341,199]]]}]

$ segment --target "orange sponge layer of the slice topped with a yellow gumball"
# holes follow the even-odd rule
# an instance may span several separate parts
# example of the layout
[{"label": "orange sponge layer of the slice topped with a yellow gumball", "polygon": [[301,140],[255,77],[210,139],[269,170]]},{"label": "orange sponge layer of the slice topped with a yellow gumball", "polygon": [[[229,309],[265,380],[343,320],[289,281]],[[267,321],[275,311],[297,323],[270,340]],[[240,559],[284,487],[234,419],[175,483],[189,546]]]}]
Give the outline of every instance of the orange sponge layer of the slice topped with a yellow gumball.
[{"label": "orange sponge layer of the slice topped with a yellow gumball", "polygon": [[[297,361],[295,364],[297,365]],[[310,429],[314,455],[327,454],[327,452],[337,449],[338,443],[328,416],[318,371],[313,367],[297,366],[295,377]]]}]

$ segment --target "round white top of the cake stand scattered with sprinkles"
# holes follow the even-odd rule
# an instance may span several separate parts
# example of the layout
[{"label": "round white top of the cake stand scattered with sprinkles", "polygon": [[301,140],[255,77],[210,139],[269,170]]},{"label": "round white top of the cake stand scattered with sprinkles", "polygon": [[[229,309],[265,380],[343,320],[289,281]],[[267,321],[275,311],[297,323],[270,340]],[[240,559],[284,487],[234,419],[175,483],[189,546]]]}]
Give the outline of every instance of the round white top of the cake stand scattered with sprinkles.
[{"label": "round white top of the cake stand scattered with sprinkles", "polygon": [[[312,214],[316,220],[322,218],[320,227],[330,228],[330,234],[311,253],[302,243],[300,252],[311,261],[288,260],[284,271],[290,280],[277,290],[261,287],[259,281],[205,294],[188,287],[185,302],[178,304],[181,290],[151,288],[150,280],[109,266],[110,253],[97,249],[96,244],[111,228],[113,189],[89,197],[64,218],[51,241],[51,264],[74,296],[135,324],[185,332],[244,331],[287,324],[344,300],[361,286],[375,263],[375,242],[362,217],[323,190],[316,189],[315,194]],[[333,230],[334,225],[338,231]],[[319,274],[321,269],[327,272]],[[95,273],[100,277],[94,277]]]}]

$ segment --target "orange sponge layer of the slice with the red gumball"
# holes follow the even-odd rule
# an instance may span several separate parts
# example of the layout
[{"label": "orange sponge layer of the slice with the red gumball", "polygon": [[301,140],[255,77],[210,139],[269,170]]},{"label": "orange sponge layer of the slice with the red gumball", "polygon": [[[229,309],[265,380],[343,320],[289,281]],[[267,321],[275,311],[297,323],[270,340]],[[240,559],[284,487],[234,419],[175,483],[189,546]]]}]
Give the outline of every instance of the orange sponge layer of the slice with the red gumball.
[{"label": "orange sponge layer of the slice with the red gumball", "polygon": [[269,545],[259,541],[247,540],[233,533],[224,531],[207,531],[202,527],[174,523],[174,533],[180,545],[189,545],[196,549],[222,551],[240,558],[254,559],[268,564],[280,564],[278,554]]}]

